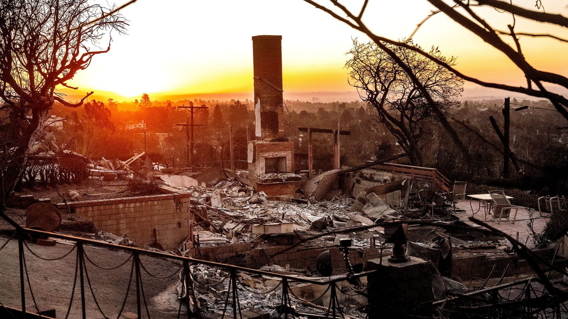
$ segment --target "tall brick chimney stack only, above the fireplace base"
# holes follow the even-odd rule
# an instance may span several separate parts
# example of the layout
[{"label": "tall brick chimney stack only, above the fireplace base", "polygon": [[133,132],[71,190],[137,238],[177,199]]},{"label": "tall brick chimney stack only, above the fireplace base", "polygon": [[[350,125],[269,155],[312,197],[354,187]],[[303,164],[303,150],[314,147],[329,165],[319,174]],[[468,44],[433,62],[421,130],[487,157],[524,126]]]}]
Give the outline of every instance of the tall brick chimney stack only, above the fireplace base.
[{"label": "tall brick chimney stack only, above the fireplace base", "polygon": [[284,136],[282,116],[282,36],[252,37],[254,114],[257,140]]}]

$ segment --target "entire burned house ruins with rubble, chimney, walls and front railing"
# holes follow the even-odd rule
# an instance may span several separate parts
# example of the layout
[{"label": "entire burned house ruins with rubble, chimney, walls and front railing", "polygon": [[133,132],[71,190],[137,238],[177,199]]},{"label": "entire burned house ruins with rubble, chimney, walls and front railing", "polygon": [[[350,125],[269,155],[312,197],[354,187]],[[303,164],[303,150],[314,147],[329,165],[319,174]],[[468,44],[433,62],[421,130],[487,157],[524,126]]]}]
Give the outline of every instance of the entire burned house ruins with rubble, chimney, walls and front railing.
[{"label": "entire burned house ruins with rubble, chimney, walls and front railing", "polygon": [[[10,262],[0,273],[15,280],[0,285],[8,299],[0,316],[27,305],[52,317],[107,309],[120,318],[562,317],[568,299],[554,289],[568,265],[567,237],[537,242],[565,212],[563,198],[542,199],[548,204],[538,202],[537,217],[525,207],[513,216],[504,193],[468,198],[467,183],[437,169],[392,163],[404,154],[340,166],[339,135],[350,131],[335,125],[306,128],[336,136],[334,169],[312,176],[310,162],[308,175],[296,167],[283,125],[282,37],[253,36],[252,45],[256,139],[247,145],[248,170],[163,167],[143,163],[145,153],[127,161],[73,154],[89,178],[62,192],[57,186],[51,199],[23,188],[2,215],[0,250]],[[32,162],[42,172],[46,163]],[[33,271],[48,274],[49,262],[59,286],[80,292],[65,303],[44,297],[45,307],[30,292],[44,280]],[[112,289],[120,292],[101,293]]]}]

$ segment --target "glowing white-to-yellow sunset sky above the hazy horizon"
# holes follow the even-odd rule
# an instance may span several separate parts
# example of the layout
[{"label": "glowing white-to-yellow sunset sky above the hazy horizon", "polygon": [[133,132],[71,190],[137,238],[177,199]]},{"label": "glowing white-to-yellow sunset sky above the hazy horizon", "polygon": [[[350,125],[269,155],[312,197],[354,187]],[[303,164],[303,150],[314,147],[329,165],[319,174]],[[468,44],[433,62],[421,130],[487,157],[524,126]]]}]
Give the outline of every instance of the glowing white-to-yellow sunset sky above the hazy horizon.
[{"label": "glowing white-to-yellow sunset sky above the hazy horizon", "polygon": [[[515,3],[534,7],[534,0]],[[567,15],[564,1],[542,3],[546,12]],[[432,9],[424,0],[371,0],[364,20],[378,35],[401,39]],[[490,22],[498,22],[500,30],[512,23],[511,15],[493,9],[482,12]],[[265,34],[282,35],[285,93],[349,91],[353,89],[343,68],[348,58],[345,52],[352,38],[366,40],[362,33],[301,0],[139,0],[122,14],[130,20],[128,35],[113,34],[111,51],[95,56],[88,69],[77,73],[70,82],[80,87],[76,94],[107,91],[118,100],[133,100],[142,93],[252,94],[251,37]],[[529,24],[522,18],[516,23],[518,31],[568,38],[565,29]],[[429,19],[414,41],[425,49],[436,45],[444,55],[457,56],[458,69],[468,75],[524,83],[522,74],[503,54],[443,14]],[[537,68],[568,75],[568,44],[530,37],[523,37],[521,44],[527,60]],[[466,83],[466,87],[474,86]]]}]

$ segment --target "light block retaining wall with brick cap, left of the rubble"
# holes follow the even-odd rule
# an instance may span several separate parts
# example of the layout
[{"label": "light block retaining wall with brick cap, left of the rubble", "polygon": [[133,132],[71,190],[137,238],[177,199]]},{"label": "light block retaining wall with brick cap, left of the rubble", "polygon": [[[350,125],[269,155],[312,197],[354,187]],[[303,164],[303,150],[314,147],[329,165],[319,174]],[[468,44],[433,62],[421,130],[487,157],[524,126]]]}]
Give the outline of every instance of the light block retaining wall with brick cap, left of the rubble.
[{"label": "light block retaining wall with brick cap, left of the rubble", "polygon": [[[189,201],[191,194],[164,194],[103,200],[70,202],[69,207],[98,229],[116,236],[128,234],[137,246],[154,242],[165,250],[176,249],[189,236]],[[60,209],[64,203],[57,204]]]}]

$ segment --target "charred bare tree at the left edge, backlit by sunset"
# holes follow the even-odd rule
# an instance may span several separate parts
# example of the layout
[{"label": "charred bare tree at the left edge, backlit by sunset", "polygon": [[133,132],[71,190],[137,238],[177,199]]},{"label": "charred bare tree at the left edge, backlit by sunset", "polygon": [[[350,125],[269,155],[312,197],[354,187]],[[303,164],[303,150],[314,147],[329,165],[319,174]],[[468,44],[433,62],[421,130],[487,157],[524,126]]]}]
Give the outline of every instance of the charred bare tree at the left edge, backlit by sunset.
[{"label": "charred bare tree at the left edge, backlit by sunset", "polygon": [[6,115],[3,129],[12,138],[1,155],[4,197],[20,178],[28,149],[40,136],[53,103],[78,107],[93,93],[69,103],[56,90],[77,89],[68,81],[93,56],[109,51],[110,37],[105,35],[125,30],[122,16],[110,11],[87,0],[0,0],[0,111]]}]

